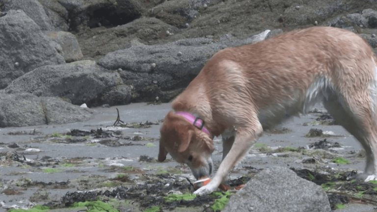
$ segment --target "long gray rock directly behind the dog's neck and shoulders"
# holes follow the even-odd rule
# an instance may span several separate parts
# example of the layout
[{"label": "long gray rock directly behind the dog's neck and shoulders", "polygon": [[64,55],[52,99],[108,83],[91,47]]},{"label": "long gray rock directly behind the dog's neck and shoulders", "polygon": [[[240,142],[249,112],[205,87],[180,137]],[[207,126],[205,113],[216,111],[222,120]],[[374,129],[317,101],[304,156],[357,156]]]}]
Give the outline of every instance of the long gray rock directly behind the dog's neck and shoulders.
[{"label": "long gray rock directly behind the dog's neck and shoulders", "polygon": [[[183,88],[200,72],[213,54],[227,47],[263,40],[269,30],[247,39],[231,35],[192,38],[165,45],[141,45],[108,53],[99,60],[107,69],[119,70],[125,84],[135,86],[141,101],[153,101],[162,91]],[[168,96],[168,95],[167,95]],[[161,99],[167,102],[170,99]]]}]

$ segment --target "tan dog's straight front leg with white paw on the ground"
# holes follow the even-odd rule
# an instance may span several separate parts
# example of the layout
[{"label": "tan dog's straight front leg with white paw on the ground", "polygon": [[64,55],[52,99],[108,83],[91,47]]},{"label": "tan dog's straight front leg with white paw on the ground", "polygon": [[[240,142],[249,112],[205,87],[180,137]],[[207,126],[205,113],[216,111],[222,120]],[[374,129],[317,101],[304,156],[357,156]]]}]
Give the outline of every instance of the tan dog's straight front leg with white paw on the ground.
[{"label": "tan dog's straight front leg with white paw on the ground", "polygon": [[225,156],[218,167],[214,179],[212,179],[209,184],[197,189],[194,194],[208,194],[214,192],[223,179],[226,178],[231,169],[241,161],[243,156],[249,151],[262,132],[263,129],[260,124],[257,126],[257,130],[254,130],[253,132],[241,131],[241,129],[239,129],[236,133],[234,143],[230,148],[229,153]]}]

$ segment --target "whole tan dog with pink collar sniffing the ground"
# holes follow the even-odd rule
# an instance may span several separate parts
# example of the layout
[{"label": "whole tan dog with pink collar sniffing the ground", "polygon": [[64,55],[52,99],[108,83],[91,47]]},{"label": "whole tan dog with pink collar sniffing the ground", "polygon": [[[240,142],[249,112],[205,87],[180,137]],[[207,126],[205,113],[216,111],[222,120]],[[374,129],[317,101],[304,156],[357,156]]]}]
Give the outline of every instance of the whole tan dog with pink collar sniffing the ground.
[{"label": "whole tan dog with pink collar sniffing the ground", "polygon": [[[223,137],[223,159],[213,180],[194,193],[215,191],[263,129],[317,102],[362,144],[362,177],[377,176],[376,55],[358,35],[311,27],[216,53],[172,108],[199,117],[195,126],[170,111],[161,129],[159,160],[187,163],[195,178],[212,172],[213,136]],[[208,130],[200,130],[203,127]],[[199,124],[198,124],[199,122]],[[262,128],[263,127],[263,128]]]}]

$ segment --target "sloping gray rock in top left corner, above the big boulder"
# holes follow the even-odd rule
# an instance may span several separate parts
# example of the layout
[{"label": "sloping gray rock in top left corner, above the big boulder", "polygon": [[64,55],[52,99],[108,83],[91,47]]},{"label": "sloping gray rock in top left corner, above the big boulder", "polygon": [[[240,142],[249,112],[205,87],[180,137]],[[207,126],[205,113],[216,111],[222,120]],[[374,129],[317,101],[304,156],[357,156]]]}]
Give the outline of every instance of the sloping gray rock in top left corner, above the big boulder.
[{"label": "sloping gray rock in top left corner, above the big boulder", "polygon": [[42,30],[53,30],[54,27],[42,4],[37,0],[4,0],[4,11],[23,10]]}]

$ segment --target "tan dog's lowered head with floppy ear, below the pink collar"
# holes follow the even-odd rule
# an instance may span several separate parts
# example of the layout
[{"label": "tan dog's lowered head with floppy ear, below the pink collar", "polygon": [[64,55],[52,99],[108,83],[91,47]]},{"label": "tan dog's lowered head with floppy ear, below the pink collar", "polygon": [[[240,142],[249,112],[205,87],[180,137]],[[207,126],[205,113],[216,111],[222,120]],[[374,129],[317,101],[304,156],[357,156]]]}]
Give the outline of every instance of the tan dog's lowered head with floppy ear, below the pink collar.
[{"label": "tan dog's lowered head with floppy ear, below the pink collar", "polygon": [[161,127],[159,161],[167,153],[179,163],[186,163],[196,179],[210,176],[213,169],[214,141],[185,117],[170,111]]}]

